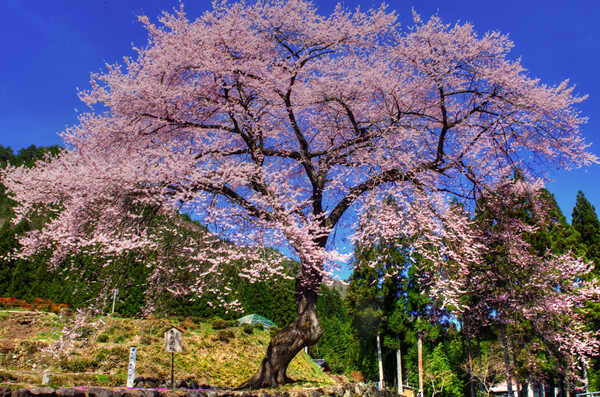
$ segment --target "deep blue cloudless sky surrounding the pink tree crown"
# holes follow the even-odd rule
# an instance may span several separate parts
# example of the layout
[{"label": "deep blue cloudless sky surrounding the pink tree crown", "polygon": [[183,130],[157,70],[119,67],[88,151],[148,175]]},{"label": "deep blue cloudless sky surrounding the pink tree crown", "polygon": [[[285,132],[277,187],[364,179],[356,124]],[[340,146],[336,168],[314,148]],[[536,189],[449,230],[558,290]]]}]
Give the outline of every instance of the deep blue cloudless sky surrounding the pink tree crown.
[{"label": "deep blue cloudless sky surrounding the pink tree crown", "polygon": [[[57,133],[76,123],[75,109],[86,110],[77,88],[89,87],[91,72],[133,56],[146,33],[137,15],[152,20],[177,0],[2,0],[0,2],[0,145],[15,150],[59,144]],[[334,2],[316,1],[322,13]],[[380,2],[346,0],[349,8]],[[188,17],[211,6],[188,0]],[[483,34],[498,30],[515,42],[531,77],[547,84],[570,79],[589,117],[583,134],[600,156],[600,1],[599,0],[392,0],[404,25],[414,8],[423,19],[438,14],[445,22],[471,22]],[[548,185],[570,221],[578,190],[600,211],[600,166],[559,172]]]}]

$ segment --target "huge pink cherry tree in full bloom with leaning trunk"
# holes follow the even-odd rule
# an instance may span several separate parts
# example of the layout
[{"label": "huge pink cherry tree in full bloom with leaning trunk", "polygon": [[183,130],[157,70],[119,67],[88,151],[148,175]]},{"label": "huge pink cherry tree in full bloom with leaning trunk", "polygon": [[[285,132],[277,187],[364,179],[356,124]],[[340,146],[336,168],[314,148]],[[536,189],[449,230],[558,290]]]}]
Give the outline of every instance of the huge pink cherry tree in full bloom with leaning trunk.
[{"label": "huge pink cherry tree in full bloom with leaning trunk", "polygon": [[[403,32],[383,6],[322,16],[303,0],[216,2],[194,21],[183,9],[158,25],[140,20],[148,45],[92,76],[81,98],[95,112],[63,134],[66,150],[4,173],[20,217],[49,216],[21,255],[52,248],[58,265],[78,252],[154,251],[155,285],[194,294],[226,293],[219,275],[240,260],[243,277],[283,273],[256,247],[290,252],[301,263],[298,317],[244,387],[286,383],[290,360],[321,336],[315,300],[346,259],[340,239],[369,244],[426,228],[413,249],[435,244],[441,265],[461,244],[460,267],[478,254],[450,198],[472,200],[515,167],[531,178],[545,164],[596,162],[579,131],[582,98],[566,82],[529,78],[499,33],[418,16]],[[395,210],[382,204],[390,196]],[[180,212],[208,232],[189,238],[166,226]],[[456,295],[452,285],[437,290]]]}]

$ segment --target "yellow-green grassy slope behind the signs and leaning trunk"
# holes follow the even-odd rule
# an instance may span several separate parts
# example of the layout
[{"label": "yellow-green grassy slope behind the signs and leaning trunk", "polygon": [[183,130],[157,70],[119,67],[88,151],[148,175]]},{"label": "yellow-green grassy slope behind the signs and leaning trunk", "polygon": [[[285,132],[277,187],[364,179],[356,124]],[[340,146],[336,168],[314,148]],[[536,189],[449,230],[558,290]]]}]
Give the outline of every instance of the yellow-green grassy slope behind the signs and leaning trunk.
[{"label": "yellow-green grassy slope behind the signs and leaning trunk", "polygon": [[[137,346],[136,376],[170,378],[170,353],[164,352],[163,332],[171,325],[185,331],[184,351],[175,354],[175,378],[200,384],[233,387],[260,365],[270,335],[254,329],[230,328],[234,338],[219,340],[209,323],[132,320],[103,317],[97,329],[86,327],[74,348],[62,358],[45,350],[55,344],[65,320],[59,316],[0,313],[0,382],[38,384],[48,370],[51,385],[124,386],[129,347]],[[68,320],[67,320],[68,321]],[[329,377],[303,352],[292,361],[288,375],[300,384],[331,384]]]}]

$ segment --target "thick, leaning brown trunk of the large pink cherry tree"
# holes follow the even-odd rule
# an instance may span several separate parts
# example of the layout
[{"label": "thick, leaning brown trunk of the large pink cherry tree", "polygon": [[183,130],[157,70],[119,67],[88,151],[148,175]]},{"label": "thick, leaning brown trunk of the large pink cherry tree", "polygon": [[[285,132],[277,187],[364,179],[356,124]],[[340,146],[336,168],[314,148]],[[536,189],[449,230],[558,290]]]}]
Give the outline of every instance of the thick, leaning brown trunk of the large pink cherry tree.
[{"label": "thick, leaning brown trunk of the large pink cherry tree", "polygon": [[321,281],[321,277],[306,277],[306,273],[296,280],[296,320],[273,336],[260,368],[238,389],[279,387],[292,382],[286,375],[288,365],[305,346],[317,343],[323,333],[316,306]]}]

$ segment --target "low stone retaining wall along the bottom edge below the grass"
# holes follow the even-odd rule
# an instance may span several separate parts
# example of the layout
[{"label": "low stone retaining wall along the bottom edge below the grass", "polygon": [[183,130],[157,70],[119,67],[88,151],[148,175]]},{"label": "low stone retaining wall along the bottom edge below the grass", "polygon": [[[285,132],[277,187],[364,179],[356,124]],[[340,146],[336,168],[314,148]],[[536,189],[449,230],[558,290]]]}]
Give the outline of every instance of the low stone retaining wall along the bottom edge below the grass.
[{"label": "low stone retaining wall along the bottom edge below the grass", "polygon": [[379,390],[363,383],[319,387],[314,389],[234,390],[148,390],[128,388],[60,388],[31,387],[11,389],[0,387],[0,397],[398,397],[391,390]]}]

